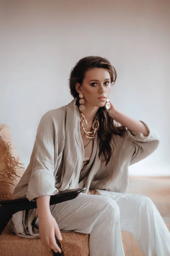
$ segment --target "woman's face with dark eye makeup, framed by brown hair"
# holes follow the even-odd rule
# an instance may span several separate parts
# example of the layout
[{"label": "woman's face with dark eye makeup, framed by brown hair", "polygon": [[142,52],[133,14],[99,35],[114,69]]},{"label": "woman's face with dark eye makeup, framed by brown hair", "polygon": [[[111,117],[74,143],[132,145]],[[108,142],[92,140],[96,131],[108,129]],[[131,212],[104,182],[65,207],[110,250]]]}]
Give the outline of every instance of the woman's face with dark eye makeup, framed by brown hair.
[{"label": "woman's face with dark eye makeup, framed by brown hair", "polygon": [[103,107],[111,91],[111,76],[107,69],[92,68],[85,73],[81,86],[77,84],[78,93],[83,93],[85,105]]}]

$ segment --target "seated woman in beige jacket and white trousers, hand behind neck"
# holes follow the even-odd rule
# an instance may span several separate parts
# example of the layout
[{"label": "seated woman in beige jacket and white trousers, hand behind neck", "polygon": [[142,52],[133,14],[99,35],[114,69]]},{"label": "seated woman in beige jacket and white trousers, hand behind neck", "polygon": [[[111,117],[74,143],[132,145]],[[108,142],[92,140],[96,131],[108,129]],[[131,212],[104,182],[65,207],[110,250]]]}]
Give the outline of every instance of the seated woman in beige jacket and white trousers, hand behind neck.
[{"label": "seated woman in beige jacket and white trousers, hand behind neck", "polygon": [[[17,212],[8,227],[19,236],[40,236],[59,252],[60,230],[89,233],[90,256],[124,256],[125,230],[144,255],[170,256],[170,232],[153,202],[126,193],[128,167],[155,151],[159,136],[109,102],[116,70],[108,59],[82,58],[69,81],[74,100],[42,116],[14,191],[16,198],[37,200],[37,210]],[[49,206],[50,195],[78,187],[86,190],[74,200]]]}]

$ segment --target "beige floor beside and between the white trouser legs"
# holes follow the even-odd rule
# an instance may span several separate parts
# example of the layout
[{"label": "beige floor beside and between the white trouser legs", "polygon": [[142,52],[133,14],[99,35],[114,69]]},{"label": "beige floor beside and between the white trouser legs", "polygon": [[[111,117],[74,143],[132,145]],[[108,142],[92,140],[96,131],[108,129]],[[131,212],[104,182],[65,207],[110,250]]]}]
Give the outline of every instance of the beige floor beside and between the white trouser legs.
[{"label": "beige floor beside and between the white trouser legs", "polygon": [[[170,230],[170,177],[130,177],[127,193],[152,199]],[[125,256],[144,256],[133,236],[122,231]]]}]

